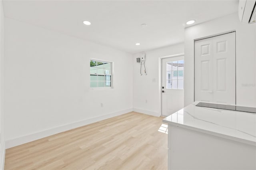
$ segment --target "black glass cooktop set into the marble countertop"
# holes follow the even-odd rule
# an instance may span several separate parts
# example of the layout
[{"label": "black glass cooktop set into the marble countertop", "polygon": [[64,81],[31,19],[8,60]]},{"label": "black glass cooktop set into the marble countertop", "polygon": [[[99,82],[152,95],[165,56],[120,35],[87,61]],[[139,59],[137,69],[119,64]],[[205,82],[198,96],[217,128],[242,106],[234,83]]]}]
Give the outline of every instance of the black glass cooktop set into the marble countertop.
[{"label": "black glass cooktop set into the marble countertop", "polygon": [[203,103],[203,102],[199,102],[196,106],[210,107],[210,108],[216,108],[216,109],[225,109],[225,110],[230,110],[230,111],[256,113],[256,107],[232,106],[232,105],[222,105],[222,104]]}]

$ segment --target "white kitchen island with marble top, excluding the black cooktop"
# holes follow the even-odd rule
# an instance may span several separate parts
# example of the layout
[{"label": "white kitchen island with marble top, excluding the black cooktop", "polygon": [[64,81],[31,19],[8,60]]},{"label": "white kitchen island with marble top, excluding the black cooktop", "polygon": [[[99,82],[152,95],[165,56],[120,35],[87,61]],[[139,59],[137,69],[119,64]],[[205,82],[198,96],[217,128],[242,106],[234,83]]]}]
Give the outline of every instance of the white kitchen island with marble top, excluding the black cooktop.
[{"label": "white kitchen island with marble top, excluding the black cooktop", "polygon": [[256,113],[198,103],[163,119],[168,123],[168,170],[255,170]]}]

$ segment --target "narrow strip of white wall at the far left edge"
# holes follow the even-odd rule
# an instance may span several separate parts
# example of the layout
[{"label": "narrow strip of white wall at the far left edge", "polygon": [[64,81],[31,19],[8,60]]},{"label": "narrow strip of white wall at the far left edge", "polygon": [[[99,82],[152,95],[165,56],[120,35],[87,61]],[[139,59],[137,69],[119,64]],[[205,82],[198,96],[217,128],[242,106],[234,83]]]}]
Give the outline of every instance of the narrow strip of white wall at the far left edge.
[{"label": "narrow strip of white wall at the far left edge", "polygon": [[4,10],[2,0],[0,1],[0,169],[4,169],[4,155],[5,155],[5,138],[4,138],[4,93],[3,93],[3,78],[4,78]]}]

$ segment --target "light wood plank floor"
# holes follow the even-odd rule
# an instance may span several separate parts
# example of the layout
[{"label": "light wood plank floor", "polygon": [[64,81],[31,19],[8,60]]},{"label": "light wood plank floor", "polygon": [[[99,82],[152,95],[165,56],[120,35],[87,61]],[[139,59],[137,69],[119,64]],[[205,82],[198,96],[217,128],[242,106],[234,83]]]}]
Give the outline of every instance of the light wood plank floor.
[{"label": "light wood plank floor", "polygon": [[9,148],[5,170],[164,170],[162,119],[131,112]]}]

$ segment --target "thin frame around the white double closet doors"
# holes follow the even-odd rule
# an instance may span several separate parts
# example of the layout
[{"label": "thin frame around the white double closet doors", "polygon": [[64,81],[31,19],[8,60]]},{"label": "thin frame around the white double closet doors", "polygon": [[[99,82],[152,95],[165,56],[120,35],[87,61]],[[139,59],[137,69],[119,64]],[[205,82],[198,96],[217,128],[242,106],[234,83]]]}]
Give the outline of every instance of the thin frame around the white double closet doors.
[{"label": "thin frame around the white double closet doors", "polygon": [[[219,33],[219,34],[214,34],[214,35],[211,35],[211,36],[205,36],[205,37],[202,37],[202,38],[194,39],[194,101],[195,101],[195,83],[196,83],[195,82],[195,42],[198,41],[198,40],[204,40],[204,39],[207,39],[207,38],[222,36],[224,34],[230,34],[232,32],[235,33],[235,93],[236,93],[236,30],[231,30],[231,31],[222,32],[222,33]],[[235,97],[236,97],[236,94],[235,94]],[[236,105],[236,99],[235,99],[235,105]],[[161,110],[161,113],[162,113],[162,110]]]}]

